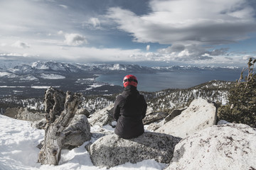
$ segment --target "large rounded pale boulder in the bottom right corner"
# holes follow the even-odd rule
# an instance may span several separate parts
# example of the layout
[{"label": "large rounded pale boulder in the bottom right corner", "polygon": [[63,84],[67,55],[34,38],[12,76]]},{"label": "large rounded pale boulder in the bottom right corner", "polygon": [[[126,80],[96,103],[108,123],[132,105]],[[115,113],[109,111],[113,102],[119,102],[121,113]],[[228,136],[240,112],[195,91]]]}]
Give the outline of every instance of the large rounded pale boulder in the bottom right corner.
[{"label": "large rounded pale boulder in the bottom right corner", "polygon": [[181,140],[165,170],[256,169],[256,129],[214,125]]}]

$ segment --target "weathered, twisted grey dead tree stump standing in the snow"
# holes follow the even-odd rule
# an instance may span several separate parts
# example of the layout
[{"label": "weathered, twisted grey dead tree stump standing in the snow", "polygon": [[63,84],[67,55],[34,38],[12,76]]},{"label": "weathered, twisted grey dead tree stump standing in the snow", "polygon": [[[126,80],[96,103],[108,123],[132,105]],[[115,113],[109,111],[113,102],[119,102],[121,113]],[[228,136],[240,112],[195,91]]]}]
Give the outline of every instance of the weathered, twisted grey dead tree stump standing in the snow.
[{"label": "weathered, twisted grey dead tree stump standing in the snow", "polygon": [[[77,133],[76,131],[65,131],[65,128],[74,118],[81,102],[80,98],[80,94],[72,94],[69,91],[66,94],[53,88],[46,91],[44,102],[48,123],[44,145],[38,155],[39,163],[58,165],[63,140],[65,137]],[[64,102],[65,104],[61,104]]]}]

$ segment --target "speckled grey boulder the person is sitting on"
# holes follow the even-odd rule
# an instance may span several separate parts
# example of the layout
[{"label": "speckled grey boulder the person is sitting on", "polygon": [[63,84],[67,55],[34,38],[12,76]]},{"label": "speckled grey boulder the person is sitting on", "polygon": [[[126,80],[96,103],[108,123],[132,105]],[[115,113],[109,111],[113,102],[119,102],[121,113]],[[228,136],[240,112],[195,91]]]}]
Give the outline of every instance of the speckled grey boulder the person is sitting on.
[{"label": "speckled grey boulder the person is sitting on", "polygon": [[168,164],[180,137],[144,132],[143,135],[124,140],[117,135],[106,135],[89,147],[90,157],[95,166],[113,167],[126,162],[137,163],[145,159]]}]

